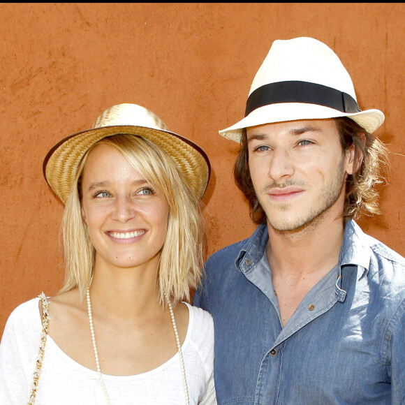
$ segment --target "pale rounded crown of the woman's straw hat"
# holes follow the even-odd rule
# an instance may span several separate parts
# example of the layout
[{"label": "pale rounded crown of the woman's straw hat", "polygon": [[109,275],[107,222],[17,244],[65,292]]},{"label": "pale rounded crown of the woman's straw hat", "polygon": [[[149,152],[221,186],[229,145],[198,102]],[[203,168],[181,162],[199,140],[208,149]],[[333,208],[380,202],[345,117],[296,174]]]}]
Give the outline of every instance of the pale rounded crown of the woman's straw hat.
[{"label": "pale rounded crown of the woman's straw hat", "polygon": [[131,125],[168,131],[166,124],[152,111],[137,104],[117,104],[105,110],[92,128]]}]

